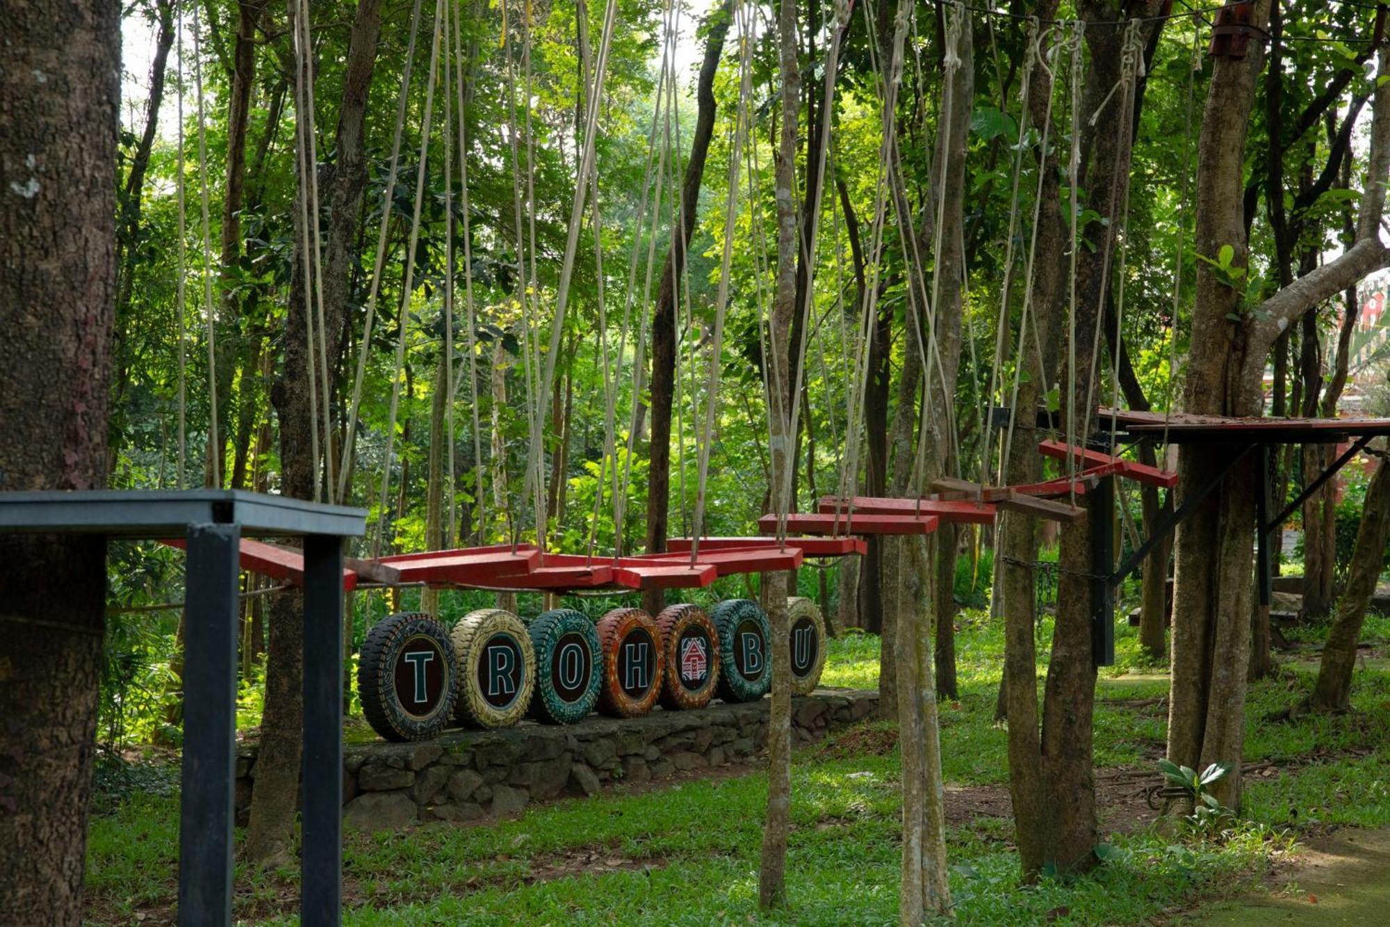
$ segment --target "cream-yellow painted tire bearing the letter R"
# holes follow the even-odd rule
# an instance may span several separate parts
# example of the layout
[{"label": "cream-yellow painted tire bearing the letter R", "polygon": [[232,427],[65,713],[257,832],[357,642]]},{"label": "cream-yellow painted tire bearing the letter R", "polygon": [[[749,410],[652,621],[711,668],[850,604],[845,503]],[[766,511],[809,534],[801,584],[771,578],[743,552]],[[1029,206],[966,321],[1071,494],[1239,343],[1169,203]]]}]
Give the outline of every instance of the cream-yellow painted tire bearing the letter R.
[{"label": "cream-yellow painted tire bearing the letter R", "polygon": [[521,619],[502,608],[471,611],[453,626],[459,722],[505,728],[520,721],[535,688],[535,650]]}]

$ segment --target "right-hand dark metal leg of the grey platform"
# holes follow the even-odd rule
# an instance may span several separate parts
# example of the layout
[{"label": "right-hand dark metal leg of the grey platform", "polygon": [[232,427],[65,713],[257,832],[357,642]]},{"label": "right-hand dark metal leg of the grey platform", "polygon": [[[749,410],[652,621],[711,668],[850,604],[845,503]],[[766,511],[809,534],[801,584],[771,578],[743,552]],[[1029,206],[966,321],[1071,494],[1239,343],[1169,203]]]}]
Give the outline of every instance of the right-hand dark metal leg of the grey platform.
[{"label": "right-hand dark metal leg of the grey platform", "polygon": [[342,899],[342,539],[304,537],[304,785],[299,917],[338,924]]}]

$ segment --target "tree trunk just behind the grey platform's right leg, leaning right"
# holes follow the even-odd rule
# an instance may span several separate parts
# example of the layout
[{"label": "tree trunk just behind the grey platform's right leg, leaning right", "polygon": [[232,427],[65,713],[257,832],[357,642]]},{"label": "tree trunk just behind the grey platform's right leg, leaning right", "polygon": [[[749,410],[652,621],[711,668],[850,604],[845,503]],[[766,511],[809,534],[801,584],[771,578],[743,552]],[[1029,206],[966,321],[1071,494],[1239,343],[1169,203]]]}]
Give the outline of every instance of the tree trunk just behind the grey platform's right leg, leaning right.
[{"label": "tree trunk just behind the grey platform's right leg, leaning right", "polygon": [[[291,3],[291,24],[295,22],[295,3]],[[353,21],[349,42],[343,104],[338,120],[338,174],[328,184],[328,234],[324,267],[324,315],[327,331],[339,331],[346,308],[346,258],[341,273],[334,271],[334,259],[352,246],[359,220],[361,180],[356,193],[345,177],[352,175],[352,163],[361,163],[361,121],[366,114],[367,90],[377,57],[379,28],[379,0],[361,0]],[[310,166],[313,170],[313,166]],[[300,191],[307,178],[300,178]],[[271,402],[279,413],[281,491],[291,498],[313,498],[317,462],[311,454],[309,409],[310,377],[316,376],[309,355],[307,319],[304,317],[303,276],[304,238],[300,228],[300,209],[295,209],[296,237],[293,273],[285,316],[285,355],[279,380],[271,388]],[[342,249],[338,252],[336,249]],[[332,281],[332,283],[329,283]],[[338,290],[341,287],[342,290]],[[336,302],[335,302],[336,299]],[[329,305],[332,303],[332,309]],[[339,367],[343,341],[331,345],[328,366]],[[320,397],[328,402],[329,397]],[[265,654],[265,708],[261,715],[260,753],[256,760],[256,782],[252,792],[250,823],[246,828],[246,857],[259,866],[278,866],[291,857],[295,831],[295,807],[299,796],[300,738],[303,731],[303,601],[297,592],[275,596],[270,604],[270,646]]]}]

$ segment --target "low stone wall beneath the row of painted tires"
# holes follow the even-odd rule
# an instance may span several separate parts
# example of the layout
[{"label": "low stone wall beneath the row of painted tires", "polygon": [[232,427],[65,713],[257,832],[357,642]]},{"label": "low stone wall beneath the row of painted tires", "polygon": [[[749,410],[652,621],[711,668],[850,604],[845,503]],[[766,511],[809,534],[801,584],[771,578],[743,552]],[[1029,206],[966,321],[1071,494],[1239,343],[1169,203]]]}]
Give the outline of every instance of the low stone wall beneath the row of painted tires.
[{"label": "low stone wall beneath the row of painted tires", "polygon": [[[343,816],[364,830],[414,821],[473,821],[514,814],[534,800],[594,795],[748,761],[767,743],[770,702],[653,711],[644,718],[585,718],[567,727],[523,722],[502,731],[450,731],[421,743],[377,742],[343,754]],[[792,699],[799,743],[873,714],[877,692],[817,689]],[[236,759],[236,814],[245,823],[256,747]]]}]

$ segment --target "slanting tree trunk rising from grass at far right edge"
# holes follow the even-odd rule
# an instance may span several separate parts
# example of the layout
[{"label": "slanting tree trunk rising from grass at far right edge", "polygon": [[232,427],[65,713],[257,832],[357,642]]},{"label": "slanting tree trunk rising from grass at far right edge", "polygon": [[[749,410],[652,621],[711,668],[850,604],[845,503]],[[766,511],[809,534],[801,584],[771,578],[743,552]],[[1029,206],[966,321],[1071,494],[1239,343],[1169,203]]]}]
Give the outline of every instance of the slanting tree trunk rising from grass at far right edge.
[{"label": "slanting tree trunk rising from grass at far right edge", "polygon": [[1386,536],[1390,534],[1390,469],[1384,458],[1366,487],[1365,509],[1357,530],[1357,547],[1347,566],[1347,590],[1337,603],[1337,617],[1322,649],[1318,682],[1308,703],[1315,711],[1351,710],[1351,671],[1357,665],[1357,642],[1376,580],[1384,568]]}]

